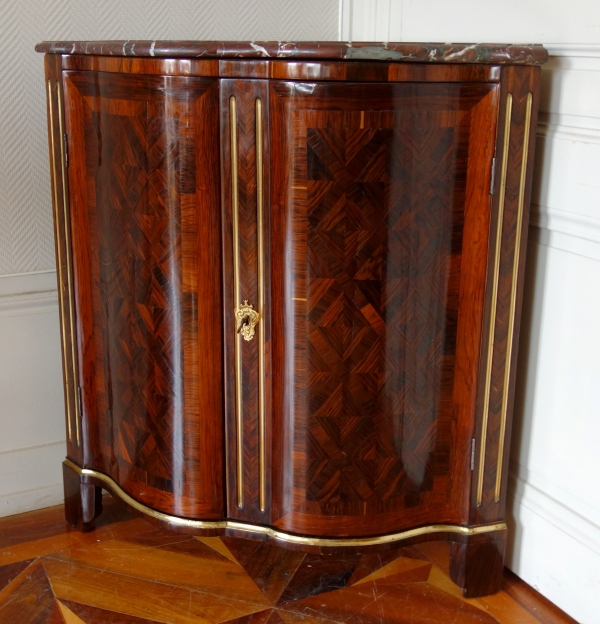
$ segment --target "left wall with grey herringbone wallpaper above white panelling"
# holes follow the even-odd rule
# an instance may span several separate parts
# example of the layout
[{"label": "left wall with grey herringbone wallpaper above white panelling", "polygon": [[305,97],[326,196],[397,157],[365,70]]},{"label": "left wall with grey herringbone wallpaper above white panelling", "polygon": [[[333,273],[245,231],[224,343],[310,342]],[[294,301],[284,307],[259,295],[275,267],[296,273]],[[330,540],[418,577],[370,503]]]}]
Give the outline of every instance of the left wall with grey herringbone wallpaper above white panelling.
[{"label": "left wall with grey herringbone wallpaper above white panelling", "polygon": [[0,516],[62,502],[64,408],[43,56],[52,39],[335,39],[338,0],[1,3]]}]

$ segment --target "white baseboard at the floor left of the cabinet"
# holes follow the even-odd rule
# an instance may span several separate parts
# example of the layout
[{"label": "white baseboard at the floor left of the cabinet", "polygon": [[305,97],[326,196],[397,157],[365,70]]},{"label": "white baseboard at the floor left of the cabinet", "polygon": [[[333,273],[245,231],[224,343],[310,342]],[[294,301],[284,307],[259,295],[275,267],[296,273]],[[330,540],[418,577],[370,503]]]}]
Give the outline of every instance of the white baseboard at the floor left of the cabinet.
[{"label": "white baseboard at the floor left of the cabinet", "polygon": [[0,452],[0,517],[61,504],[64,456],[63,440]]}]

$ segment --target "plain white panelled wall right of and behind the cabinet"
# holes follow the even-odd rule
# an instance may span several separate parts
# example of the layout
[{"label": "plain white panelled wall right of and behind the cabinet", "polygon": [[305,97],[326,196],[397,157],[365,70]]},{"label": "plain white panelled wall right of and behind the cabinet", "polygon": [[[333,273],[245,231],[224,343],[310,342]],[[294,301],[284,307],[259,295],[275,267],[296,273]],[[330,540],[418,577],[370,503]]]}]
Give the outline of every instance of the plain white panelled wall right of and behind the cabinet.
[{"label": "plain white panelled wall right of and behind the cabinet", "polygon": [[600,2],[342,0],[340,36],[545,43],[507,564],[600,622]]}]

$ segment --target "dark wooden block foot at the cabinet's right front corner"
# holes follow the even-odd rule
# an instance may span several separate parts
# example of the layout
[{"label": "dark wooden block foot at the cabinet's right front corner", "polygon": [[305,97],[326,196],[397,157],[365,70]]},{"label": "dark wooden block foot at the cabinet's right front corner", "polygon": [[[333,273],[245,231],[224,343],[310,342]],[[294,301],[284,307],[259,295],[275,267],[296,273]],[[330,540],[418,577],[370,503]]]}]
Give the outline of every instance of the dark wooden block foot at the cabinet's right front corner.
[{"label": "dark wooden block foot at the cabinet's right front corner", "polygon": [[466,544],[453,543],[450,578],[465,598],[477,598],[500,590],[504,570],[506,531],[493,538],[477,536]]}]

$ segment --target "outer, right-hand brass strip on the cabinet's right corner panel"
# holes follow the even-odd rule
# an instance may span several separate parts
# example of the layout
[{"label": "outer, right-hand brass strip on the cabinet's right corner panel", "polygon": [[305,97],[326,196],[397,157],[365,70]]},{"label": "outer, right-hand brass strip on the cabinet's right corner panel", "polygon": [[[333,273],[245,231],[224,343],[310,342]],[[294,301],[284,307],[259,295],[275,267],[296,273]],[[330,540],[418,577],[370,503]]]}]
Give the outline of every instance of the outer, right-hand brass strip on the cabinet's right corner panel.
[{"label": "outer, right-hand brass strip on the cabinet's right corner panel", "polygon": [[498,466],[496,468],[496,490],[494,500],[500,501],[502,486],[502,464],[504,461],[504,438],[506,437],[506,415],[508,411],[508,389],[510,384],[510,368],[512,365],[512,348],[515,332],[515,312],[517,308],[517,281],[519,278],[519,254],[521,252],[521,235],[523,229],[523,207],[525,203],[525,182],[527,178],[527,157],[529,154],[529,133],[531,130],[531,107],[533,94],[527,95],[525,112],[525,136],[523,137],[523,158],[521,161],[521,180],[519,181],[519,205],[517,209],[517,230],[515,233],[515,255],[513,259],[512,289],[510,293],[510,311],[508,316],[508,334],[506,342],[506,364],[504,369],[504,387],[502,390],[502,411],[500,412],[500,441],[498,447]]}]

